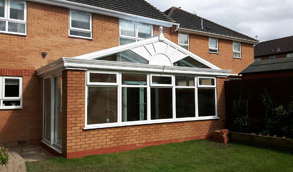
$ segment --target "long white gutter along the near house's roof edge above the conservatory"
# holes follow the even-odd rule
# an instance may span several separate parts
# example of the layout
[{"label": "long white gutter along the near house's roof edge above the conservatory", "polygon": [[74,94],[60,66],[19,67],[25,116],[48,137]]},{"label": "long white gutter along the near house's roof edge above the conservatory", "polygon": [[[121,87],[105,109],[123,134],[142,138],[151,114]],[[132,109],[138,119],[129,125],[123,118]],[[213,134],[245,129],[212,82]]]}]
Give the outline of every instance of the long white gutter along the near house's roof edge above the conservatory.
[{"label": "long white gutter along the near house's roof edge above the conservatory", "polygon": [[28,0],[28,1],[38,2],[42,4],[49,4],[54,6],[61,6],[65,8],[74,9],[74,10],[79,10],[79,11],[84,11],[89,13],[97,13],[97,14],[117,17],[117,18],[121,18],[125,20],[132,20],[132,21],[137,21],[137,22],[142,22],[142,23],[147,23],[152,25],[159,25],[164,27],[172,27],[173,25],[176,25],[177,27],[179,27],[180,25],[178,23],[173,23],[173,22],[168,22],[168,21],[163,21],[163,20],[158,20],[158,19],[148,18],[143,16],[137,16],[134,14],[124,13],[120,11],[110,10],[106,8],[101,8],[101,7],[96,7],[96,6],[91,6],[91,5],[86,5],[86,4],[81,4],[81,3],[71,2],[66,0]]}]

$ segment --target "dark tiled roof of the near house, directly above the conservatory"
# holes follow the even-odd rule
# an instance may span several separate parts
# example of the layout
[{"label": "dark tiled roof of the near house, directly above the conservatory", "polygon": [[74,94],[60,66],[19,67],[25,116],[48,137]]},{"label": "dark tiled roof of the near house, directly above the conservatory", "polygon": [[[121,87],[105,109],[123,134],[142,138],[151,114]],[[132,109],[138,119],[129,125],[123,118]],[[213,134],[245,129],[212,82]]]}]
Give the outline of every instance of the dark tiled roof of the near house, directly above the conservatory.
[{"label": "dark tiled roof of the near house, directly above the conservatory", "polygon": [[100,8],[130,13],[158,20],[175,22],[169,16],[144,0],[68,0]]}]

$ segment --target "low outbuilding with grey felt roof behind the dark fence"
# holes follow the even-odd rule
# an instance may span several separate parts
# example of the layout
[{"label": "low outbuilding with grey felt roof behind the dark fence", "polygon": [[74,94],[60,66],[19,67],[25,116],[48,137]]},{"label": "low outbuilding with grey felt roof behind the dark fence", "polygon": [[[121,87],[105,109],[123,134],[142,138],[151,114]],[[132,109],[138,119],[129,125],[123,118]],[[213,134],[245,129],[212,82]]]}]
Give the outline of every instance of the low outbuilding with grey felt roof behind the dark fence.
[{"label": "low outbuilding with grey felt roof behind the dark fence", "polygon": [[239,74],[242,79],[293,76],[293,57],[254,61]]}]

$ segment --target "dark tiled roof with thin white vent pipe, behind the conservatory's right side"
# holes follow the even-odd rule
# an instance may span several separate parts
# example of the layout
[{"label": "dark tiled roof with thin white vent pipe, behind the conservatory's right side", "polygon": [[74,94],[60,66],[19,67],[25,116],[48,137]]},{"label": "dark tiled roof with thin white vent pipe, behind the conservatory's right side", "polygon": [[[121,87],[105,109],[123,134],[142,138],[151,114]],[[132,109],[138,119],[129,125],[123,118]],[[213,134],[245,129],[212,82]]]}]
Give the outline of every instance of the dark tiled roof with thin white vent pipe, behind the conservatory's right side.
[{"label": "dark tiled roof with thin white vent pipe, behind the conservatory's right side", "polygon": [[168,10],[164,11],[164,13],[172,19],[174,19],[177,23],[179,23],[181,28],[198,30],[202,32],[209,32],[213,34],[225,35],[258,42],[257,39],[253,39],[252,37],[231,30],[227,27],[214,23],[195,14],[184,11],[178,7],[173,6]]}]

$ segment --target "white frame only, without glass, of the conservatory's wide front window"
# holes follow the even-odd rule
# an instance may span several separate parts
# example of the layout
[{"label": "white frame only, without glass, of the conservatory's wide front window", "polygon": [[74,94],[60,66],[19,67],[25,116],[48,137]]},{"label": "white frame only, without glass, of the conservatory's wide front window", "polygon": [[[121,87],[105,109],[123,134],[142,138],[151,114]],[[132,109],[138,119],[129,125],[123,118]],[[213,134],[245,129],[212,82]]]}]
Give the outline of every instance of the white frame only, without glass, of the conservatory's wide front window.
[{"label": "white frame only, without glass, of the conservatory's wide front window", "polygon": [[[116,74],[116,85],[105,85],[103,82],[88,82],[89,73],[111,73]],[[124,85],[122,82],[122,73],[133,73],[133,74],[145,74],[147,75],[147,85]],[[171,77],[172,84],[152,84],[151,78],[152,76],[167,76]],[[175,76],[192,76],[194,77],[194,86],[175,86]],[[211,78],[214,79],[215,85],[207,86],[201,85],[198,87],[198,78]],[[139,124],[151,124],[151,123],[164,123],[164,122],[178,122],[178,121],[196,121],[196,120],[210,120],[210,119],[219,119],[217,117],[217,83],[216,77],[205,77],[205,76],[197,76],[197,75],[185,75],[185,74],[174,74],[174,75],[165,75],[165,74],[157,74],[157,73],[146,73],[146,72],[131,72],[131,71],[119,71],[119,72],[105,72],[100,70],[88,70],[86,72],[86,96],[85,96],[85,127],[84,129],[92,129],[92,128],[106,128],[106,127],[117,127],[117,126],[127,126],[127,125],[139,125]],[[110,84],[110,83],[108,83]],[[103,124],[87,124],[87,99],[88,99],[88,87],[117,87],[117,123],[103,123]],[[143,121],[126,121],[122,122],[122,89],[124,87],[144,87],[147,88],[147,120]],[[172,88],[172,115],[173,118],[168,119],[154,119],[151,120],[151,96],[150,90],[152,87],[156,88]],[[176,88],[193,88],[195,89],[195,117],[187,117],[187,118],[176,118]],[[197,88],[214,88],[215,89],[215,116],[205,116],[198,117],[198,95]]]}]

